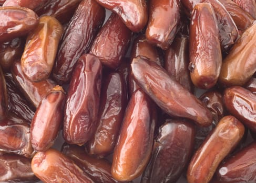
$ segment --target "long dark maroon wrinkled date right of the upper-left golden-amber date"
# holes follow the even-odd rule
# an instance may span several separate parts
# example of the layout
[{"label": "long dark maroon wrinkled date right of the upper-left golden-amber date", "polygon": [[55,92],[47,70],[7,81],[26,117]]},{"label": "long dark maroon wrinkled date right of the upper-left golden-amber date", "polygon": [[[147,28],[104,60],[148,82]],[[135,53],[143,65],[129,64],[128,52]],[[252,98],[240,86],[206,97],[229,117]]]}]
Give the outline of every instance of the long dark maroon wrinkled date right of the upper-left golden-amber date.
[{"label": "long dark maroon wrinkled date right of the upper-left golden-amber date", "polygon": [[83,0],[79,4],[60,41],[53,68],[55,81],[67,83],[70,80],[78,59],[90,49],[104,19],[105,9],[94,0]]}]

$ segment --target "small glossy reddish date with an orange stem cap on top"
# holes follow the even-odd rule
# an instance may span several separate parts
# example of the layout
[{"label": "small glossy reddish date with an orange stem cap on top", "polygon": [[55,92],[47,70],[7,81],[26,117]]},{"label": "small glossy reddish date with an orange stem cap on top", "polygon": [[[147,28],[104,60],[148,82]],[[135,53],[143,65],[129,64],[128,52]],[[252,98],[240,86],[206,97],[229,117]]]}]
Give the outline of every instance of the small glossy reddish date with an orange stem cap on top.
[{"label": "small glossy reddish date with an orange stem cap on top", "polygon": [[35,151],[46,151],[54,144],[62,127],[64,105],[64,90],[58,85],[40,102],[30,128],[30,140]]}]

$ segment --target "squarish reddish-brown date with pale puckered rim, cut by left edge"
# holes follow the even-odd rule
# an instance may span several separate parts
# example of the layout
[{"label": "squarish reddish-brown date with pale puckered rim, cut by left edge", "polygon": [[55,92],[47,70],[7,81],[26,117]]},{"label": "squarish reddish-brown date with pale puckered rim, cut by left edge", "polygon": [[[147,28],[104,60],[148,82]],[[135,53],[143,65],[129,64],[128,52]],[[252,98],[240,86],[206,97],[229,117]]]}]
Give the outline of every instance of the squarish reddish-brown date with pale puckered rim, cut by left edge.
[{"label": "squarish reddish-brown date with pale puckered rim, cut by left edge", "polygon": [[33,156],[29,124],[15,117],[6,117],[0,123],[0,151]]}]

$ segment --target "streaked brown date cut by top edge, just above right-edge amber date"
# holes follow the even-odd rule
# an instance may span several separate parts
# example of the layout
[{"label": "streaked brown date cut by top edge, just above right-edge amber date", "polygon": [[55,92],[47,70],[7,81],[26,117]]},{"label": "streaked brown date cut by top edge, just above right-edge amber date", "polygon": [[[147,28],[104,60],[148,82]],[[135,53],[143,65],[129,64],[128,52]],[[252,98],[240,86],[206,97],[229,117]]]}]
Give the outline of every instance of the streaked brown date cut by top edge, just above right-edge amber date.
[{"label": "streaked brown date cut by top edge, just above right-edge amber date", "polygon": [[245,12],[232,0],[219,0],[219,2],[228,10],[239,30],[244,31],[254,21],[254,18],[249,13]]}]

